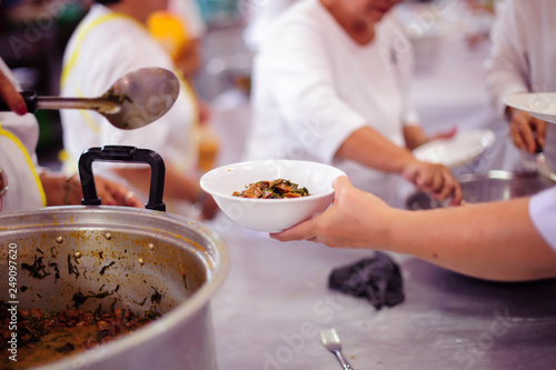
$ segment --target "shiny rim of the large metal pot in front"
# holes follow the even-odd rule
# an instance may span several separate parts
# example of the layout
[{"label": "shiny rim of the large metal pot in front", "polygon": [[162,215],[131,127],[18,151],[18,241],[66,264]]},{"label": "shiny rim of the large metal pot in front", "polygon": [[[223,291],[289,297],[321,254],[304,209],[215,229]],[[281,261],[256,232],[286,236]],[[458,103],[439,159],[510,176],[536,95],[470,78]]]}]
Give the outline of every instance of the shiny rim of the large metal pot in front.
[{"label": "shiny rim of the large metal pot in front", "polygon": [[[165,332],[177,328],[177,322],[182,322],[188,318],[192,317],[197,312],[199,312],[202,307],[209,303],[209,300],[216,293],[218,289],[224,284],[226,277],[229,270],[230,257],[228,249],[226,248],[224,241],[220,237],[206,226],[195,220],[177,216],[170,214],[160,211],[152,211],[146,209],[137,209],[129,207],[112,207],[112,206],[96,206],[96,207],[85,207],[85,206],[67,206],[67,207],[48,207],[38,210],[27,210],[27,211],[13,211],[13,212],[0,212],[0,226],[4,226],[6,220],[10,218],[19,218],[21,222],[24,223],[24,219],[40,218],[40,217],[52,217],[57,220],[57,226],[66,224],[63,221],[59,221],[63,216],[76,216],[80,213],[121,213],[121,214],[131,214],[132,217],[139,218],[139,220],[145,219],[153,219],[157,222],[167,221],[172,226],[188,226],[188,228],[195,229],[196,232],[201,234],[203,238],[210,241],[214,246],[218,261],[215,267],[212,267],[210,271],[210,278],[207,280],[202,287],[196,291],[187,301],[181,302],[175,309],[165,313],[160,319],[151,322],[150,324],[140,328],[132,336],[126,336],[123,338],[119,338],[113,342],[109,342],[99,348],[91,349],[85,352],[76,353],[75,356],[69,356],[66,359],[52,362],[50,364],[44,364],[40,367],[42,370],[54,370],[54,369],[76,369],[76,366],[81,364],[86,366],[87,363],[95,362],[96,359],[101,356],[103,359],[111,358],[119,353],[125,352],[126,350],[136,347],[145,341],[150,340],[157,333]],[[78,227],[79,223],[76,223],[76,220],[72,219],[71,226]],[[99,222],[101,224],[101,222]],[[139,222],[140,224],[140,222]],[[8,230],[18,230],[26,229],[31,227],[30,224],[22,224],[18,227],[0,227],[0,232]],[[110,226],[113,229],[113,226]]]}]

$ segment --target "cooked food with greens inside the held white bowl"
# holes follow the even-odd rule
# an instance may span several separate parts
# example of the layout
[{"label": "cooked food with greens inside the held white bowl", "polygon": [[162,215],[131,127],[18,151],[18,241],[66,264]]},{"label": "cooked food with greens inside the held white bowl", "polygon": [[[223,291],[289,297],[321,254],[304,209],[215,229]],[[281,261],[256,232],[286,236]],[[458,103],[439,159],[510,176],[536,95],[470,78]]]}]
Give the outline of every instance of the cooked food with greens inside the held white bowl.
[{"label": "cooked food with greens inside the held white bowl", "polygon": [[257,181],[246,187],[244,191],[234,191],[234,197],[260,198],[260,199],[282,199],[308,197],[309,190],[289,180],[278,179],[272,181]]}]

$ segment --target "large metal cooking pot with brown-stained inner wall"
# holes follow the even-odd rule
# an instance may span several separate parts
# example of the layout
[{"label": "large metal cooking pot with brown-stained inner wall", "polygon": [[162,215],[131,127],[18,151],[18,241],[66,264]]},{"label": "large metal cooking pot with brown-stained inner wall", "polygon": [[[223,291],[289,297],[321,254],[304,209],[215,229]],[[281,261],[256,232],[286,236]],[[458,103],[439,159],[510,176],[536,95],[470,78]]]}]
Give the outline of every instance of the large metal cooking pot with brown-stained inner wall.
[{"label": "large metal cooking pot with brown-stained inner wall", "polygon": [[[87,160],[113,154],[113,149],[108,154],[98,149]],[[90,163],[86,167],[90,172]],[[157,171],[163,173],[163,168]],[[95,184],[87,182],[91,178],[85,174],[85,202],[95,202]],[[163,178],[157,181],[163,186]],[[161,193],[151,188],[153,199],[161,200]],[[221,239],[202,224],[148,209],[47,208],[0,213],[0,297],[20,309],[61,310],[73,307],[78,297],[85,310],[100,304],[107,311],[127,307],[138,314],[149,309],[162,313],[127,337],[41,369],[217,368],[209,301],[226,278],[229,256]],[[18,267],[18,290],[11,297],[9,261]]]}]

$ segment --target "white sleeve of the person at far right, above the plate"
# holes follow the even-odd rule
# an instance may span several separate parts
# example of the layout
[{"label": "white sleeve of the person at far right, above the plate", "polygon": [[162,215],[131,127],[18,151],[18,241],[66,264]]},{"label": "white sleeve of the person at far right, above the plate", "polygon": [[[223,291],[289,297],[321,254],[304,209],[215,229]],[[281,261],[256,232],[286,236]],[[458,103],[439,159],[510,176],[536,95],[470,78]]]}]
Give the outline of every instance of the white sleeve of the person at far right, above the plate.
[{"label": "white sleeve of the person at far right, above the plate", "polygon": [[[524,6],[527,6],[523,2]],[[504,117],[504,97],[528,91],[528,63],[525,50],[526,12],[517,1],[506,1],[490,31],[493,46],[485,62],[486,86],[496,112]]]}]

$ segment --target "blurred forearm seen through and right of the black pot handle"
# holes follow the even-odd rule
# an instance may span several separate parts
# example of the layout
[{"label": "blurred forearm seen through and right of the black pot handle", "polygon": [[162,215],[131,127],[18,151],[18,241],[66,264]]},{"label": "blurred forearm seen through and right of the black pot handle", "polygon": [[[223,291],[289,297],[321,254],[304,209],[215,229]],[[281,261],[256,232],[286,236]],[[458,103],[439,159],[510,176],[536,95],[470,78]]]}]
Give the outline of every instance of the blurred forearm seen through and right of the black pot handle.
[{"label": "blurred forearm seen through and right of the black pot handle", "polygon": [[[115,169],[116,173],[125,178],[138,189],[148,192],[150,188],[150,168],[146,169]],[[191,202],[198,200],[200,187],[198,181],[176,171],[171,167],[166,168],[165,197],[185,199]]]}]

